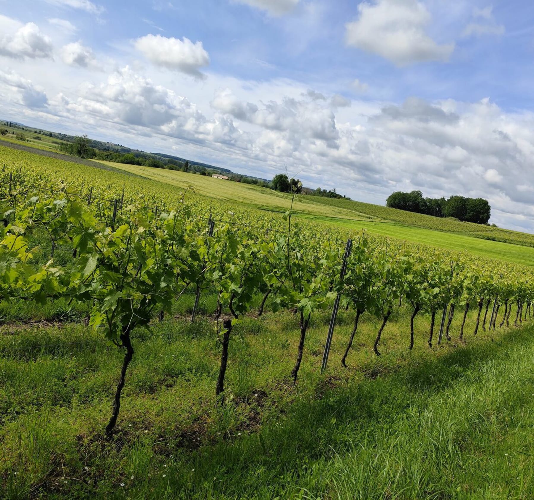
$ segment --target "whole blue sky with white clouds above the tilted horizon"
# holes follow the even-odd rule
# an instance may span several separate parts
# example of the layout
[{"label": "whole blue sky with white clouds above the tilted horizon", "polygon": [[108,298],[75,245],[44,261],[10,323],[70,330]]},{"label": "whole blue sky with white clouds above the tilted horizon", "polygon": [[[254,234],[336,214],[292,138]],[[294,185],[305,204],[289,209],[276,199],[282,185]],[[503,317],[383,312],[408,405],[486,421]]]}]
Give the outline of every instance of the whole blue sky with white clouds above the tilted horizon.
[{"label": "whole blue sky with white clouds above the tilted horizon", "polygon": [[0,0],[0,118],[534,232],[534,3]]}]

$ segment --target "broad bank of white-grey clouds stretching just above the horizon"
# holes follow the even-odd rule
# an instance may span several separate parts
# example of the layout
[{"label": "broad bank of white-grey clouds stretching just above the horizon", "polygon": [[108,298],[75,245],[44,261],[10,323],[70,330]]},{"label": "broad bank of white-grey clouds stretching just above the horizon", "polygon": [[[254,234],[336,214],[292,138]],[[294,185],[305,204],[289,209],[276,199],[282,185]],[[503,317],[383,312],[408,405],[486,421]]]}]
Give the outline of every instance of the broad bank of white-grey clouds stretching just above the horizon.
[{"label": "broad bank of white-grey clouds stretching just above the horizon", "polygon": [[508,113],[487,98],[354,99],[349,108],[340,106],[342,96],[294,81],[221,79],[217,89],[210,77],[209,108],[200,97],[177,92],[187,88],[186,77],[171,75],[173,83],[161,85],[124,67],[94,79],[46,104],[43,89],[3,72],[0,96],[22,112],[34,107],[58,117],[66,130],[71,124],[72,131],[95,130],[152,151],[175,147],[182,157],[266,178],[286,165],[306,185],[336,187],[356,199],[383,203],[392,191],[412,189],[431,197],[483,197],[492,222],[534,229],[534,116]]}]

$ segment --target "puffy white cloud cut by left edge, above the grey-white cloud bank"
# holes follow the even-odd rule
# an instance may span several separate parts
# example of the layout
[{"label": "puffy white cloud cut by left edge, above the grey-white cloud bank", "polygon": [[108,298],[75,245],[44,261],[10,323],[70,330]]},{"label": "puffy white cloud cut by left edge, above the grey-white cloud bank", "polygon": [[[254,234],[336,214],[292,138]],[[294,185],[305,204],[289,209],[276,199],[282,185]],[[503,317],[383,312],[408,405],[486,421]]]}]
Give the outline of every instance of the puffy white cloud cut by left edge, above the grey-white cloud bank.
[{"label": "puffy white cloud cut by left edge, above the grey-white cloud bank", "polygon": [[8,26],[12,28],[11,33],[6,30],[4,34],[0,34],[0,56],[14,59],[37,59],[51,56],[52,42],[48,36],[41,33],[35,23],[28,22],[21,25],[14,19],[0,17],[3,30]]}]

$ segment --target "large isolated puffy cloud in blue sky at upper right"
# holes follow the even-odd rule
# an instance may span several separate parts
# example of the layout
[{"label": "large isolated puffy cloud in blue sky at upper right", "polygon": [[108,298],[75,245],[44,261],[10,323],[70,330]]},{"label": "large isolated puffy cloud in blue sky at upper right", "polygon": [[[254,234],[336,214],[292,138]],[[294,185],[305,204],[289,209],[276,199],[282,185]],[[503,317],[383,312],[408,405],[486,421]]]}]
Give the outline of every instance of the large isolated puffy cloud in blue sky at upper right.
[{"label": "large isolated puffy cloud in blue sky at upper right", "polygon": [[425,32],[431,20],[417,0],[374,0],[358,5],[358,18],[346,25],[348,45],[377,54],[397,66],[447,61],[454,43],[437,44]]}]

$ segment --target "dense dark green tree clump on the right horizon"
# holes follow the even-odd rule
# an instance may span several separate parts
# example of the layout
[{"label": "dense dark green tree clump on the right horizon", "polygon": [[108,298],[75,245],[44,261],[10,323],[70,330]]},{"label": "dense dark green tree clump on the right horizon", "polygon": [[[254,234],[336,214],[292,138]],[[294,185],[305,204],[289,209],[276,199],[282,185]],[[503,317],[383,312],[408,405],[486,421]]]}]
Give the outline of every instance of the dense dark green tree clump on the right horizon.
[{"label": "dense dark green tree clump on the right horizon", "polygon": [[466,198],[457,195],[449,199],[423,198],[421,191],[410,193],[396,191],[390,194],[386,200],[386,206],[435,217],[454,217],[460,221],[476,224],[487,224],[491,216],[490,204],[483,198]]}]

